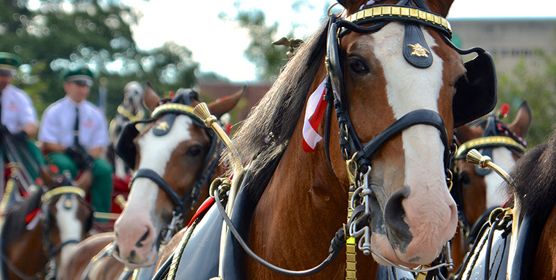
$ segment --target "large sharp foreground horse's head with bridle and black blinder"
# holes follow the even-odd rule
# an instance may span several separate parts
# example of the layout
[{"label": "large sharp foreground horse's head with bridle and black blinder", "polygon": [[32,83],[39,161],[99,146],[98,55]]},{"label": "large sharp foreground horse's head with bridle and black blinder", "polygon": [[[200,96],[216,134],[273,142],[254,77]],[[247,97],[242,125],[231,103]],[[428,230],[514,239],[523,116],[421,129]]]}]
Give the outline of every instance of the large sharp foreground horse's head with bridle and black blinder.
[{"label": "large sharp foreground horse's head with bridle and black blinder", "polygon": [[[462,63],[443,18],[452,1],[340,2],[348,17],[329,25],[327,69],[343,145],[330,154],[343,154],[354,183],[369,188],[359,194],[369,199],[375,260],[430,263],[457,226],[446,183],[454,126],[496,104],[491,58],[477,49]],[[351,181],[345,165],[332,162]]]}]

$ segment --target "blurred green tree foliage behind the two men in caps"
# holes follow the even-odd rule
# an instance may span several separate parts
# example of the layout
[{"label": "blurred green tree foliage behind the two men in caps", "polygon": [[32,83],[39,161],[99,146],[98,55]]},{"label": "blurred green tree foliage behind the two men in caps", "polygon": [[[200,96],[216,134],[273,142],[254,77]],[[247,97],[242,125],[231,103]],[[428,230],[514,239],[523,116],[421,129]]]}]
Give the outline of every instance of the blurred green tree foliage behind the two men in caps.
[{"label": "blurred green tree foliage behind the two men in caps", "polygon": [[16,53],[20,67],[15,85],[33,99],[38,115],[63,92],[59,73],[86,64],[95,72],[89,100],[97,103],[99,79],[106,78],[108,117],[123,99],[129,81],[151,81],[159,93],[190,86],[198,63],[174,42],[150,51],[139,49],[131,26],[138,10],[118,0],[0,0],[0,51]]}]

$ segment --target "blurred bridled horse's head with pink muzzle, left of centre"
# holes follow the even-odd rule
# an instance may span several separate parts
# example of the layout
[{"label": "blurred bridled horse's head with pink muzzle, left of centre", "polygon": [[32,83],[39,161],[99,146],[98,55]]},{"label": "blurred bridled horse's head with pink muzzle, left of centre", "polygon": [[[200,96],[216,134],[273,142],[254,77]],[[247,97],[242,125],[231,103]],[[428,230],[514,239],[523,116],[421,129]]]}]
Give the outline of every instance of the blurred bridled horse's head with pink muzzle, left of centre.
[{"label": "blurred bridled horse's head with pink muzzle, left of centre", "polygon": [[[243,90],[209,104],[217,117],[237,104]],[[115,223],[115,241],[124,263],[154,263],[158,247],[181,226],[206,197],[208,176],[220,158],[220,140],[193,115],[197,93],[181,90],[174,100],[162,104],[147,86],[144,102],[152,110],[151,122],[140,133],[128,124],[117,145],[118,154],[135,170],[131,192]],[[221,171],[222,172],[222,171]],[[201,197],[201,201],[204,197]],[[169,229],[170,227],[170,229]]]}]

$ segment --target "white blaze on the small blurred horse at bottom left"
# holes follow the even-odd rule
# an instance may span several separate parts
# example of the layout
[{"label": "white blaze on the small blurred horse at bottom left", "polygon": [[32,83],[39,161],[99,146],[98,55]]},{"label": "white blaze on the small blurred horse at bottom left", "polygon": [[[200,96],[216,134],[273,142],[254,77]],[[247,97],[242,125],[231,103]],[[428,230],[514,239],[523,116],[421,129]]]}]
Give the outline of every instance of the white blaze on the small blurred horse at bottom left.
[{"label": "white blaze on the small blurred horse at bottom left", "polygon": [[[56,202],[56,224],[60,229],[60,244],[67,240],[81,240],[83,224],[77,218],[79,200],[75,195],[62,195]],[[56,246],[53,244],[52,246]],[[67,263],[67,258],[77,243],[68,243],[60,252],[60,265]]]}]

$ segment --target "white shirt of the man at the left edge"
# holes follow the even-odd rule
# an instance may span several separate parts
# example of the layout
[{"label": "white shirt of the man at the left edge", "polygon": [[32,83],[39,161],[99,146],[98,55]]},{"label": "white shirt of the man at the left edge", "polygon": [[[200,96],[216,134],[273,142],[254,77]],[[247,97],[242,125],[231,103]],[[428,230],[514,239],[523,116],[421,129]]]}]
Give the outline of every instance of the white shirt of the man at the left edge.
[{"label": "white shirt of the man at the left edge", "polygon": [[22,131],[29,123],[38,124],[31,98],[13,85],[8,85],[2,90],[1,120],[10,133]]}]

